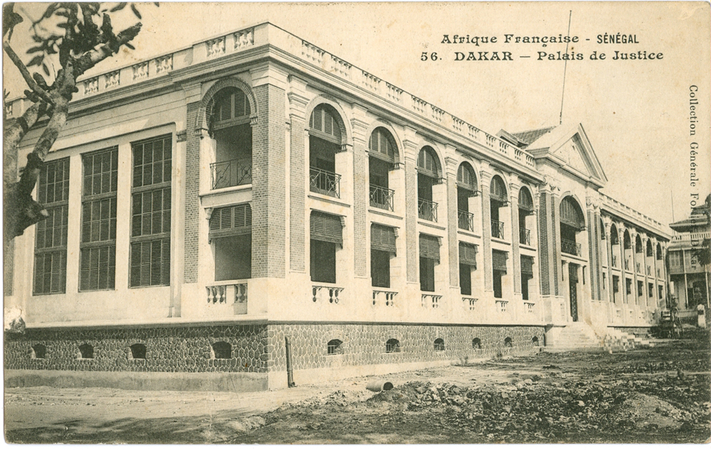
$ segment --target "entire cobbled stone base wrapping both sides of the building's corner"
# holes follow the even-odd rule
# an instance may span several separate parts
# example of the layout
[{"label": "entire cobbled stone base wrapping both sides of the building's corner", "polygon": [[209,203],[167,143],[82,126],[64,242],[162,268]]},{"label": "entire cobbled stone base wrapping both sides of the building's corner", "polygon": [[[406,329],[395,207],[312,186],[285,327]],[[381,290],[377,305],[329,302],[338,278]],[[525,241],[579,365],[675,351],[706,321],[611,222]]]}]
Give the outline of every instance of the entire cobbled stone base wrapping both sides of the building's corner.
[{"label": "entire cobbled stone base wrapping both sides of the building's corner", "polygon": [[[29,328],[21,336],[6,333],[5,383],[247,392],[287,386],[286,337],[294,380],[304,385],[533,353],[544,334],[542,326],[412,323]],[[397,348],[387,351],[393,339]],[[338,342],[329,352],[328,343]],[[133,358],[137,343],[145,346],[145,358]],[[231,358],[220,358],[215,343],[230,344]],[[91,358],[82,358],[80,347],[85,356],[90,347]]]}]

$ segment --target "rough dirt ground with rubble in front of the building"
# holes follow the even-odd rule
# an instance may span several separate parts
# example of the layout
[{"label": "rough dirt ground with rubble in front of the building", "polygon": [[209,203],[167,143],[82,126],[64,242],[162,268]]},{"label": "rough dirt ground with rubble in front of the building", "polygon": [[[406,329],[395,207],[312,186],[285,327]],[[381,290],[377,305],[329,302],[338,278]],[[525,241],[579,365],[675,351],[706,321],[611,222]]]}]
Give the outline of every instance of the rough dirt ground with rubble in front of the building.
[{"label": "rough dirt ground with rubble in front of the building", "polygon": [[[289,390],[5,390],[14,443],[707,442],[707,343],[539,353]],[[297,380],[298,382],[299,380]]]}]

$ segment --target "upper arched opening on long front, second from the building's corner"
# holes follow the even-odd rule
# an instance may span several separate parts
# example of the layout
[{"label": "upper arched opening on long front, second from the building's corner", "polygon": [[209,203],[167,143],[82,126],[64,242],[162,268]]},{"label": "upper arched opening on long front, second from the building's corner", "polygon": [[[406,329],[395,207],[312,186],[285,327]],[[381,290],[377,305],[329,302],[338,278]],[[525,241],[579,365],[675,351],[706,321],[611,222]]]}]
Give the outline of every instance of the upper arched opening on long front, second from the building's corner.
[{"label": "upper arched opening on long front, second from the building's corner", "polygon": [[370,206],[392,211],[395,191],[390,189],[390,171],[399,159],[395,139],[387,129],[378,127],[370,134],[368,150]]}]

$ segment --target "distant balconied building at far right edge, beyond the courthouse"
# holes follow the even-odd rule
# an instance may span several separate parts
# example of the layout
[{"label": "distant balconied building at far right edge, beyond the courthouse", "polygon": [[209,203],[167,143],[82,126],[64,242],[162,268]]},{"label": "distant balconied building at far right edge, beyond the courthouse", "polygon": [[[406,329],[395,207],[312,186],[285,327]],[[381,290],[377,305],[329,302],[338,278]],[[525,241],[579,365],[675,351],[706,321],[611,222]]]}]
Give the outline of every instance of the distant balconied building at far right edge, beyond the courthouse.
[{"label": "distant balconied building at far right edge, beyond the courthouse", "polygon": [[696,309],[697,305],[709,306],[709,270],[701,264],[698,252],[709,245],[711,225],[708,205],[693,208],[688,219],[671,223],[675,231],[669,244],[669,279],[673,291],[670,293],[680,309]]}]

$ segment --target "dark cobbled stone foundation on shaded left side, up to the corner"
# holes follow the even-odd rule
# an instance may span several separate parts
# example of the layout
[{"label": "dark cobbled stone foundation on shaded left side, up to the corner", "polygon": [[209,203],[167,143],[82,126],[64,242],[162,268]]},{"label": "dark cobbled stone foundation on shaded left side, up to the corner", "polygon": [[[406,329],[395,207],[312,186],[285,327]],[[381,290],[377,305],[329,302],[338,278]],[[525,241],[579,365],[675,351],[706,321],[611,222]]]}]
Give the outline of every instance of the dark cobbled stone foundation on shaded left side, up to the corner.
[{"label": "dark cobbled stone foundation on shaded left side, up to the corner", "polygon": [[[211,345],[232,345],[232,358],[212,358]],[[146,358],[133,359],[131,345],[146,345]],[[33,346],[44,345],[44,358]],[[93,347],[81,358],[79,346]],[[130,372],[266,372],[267,326],[194,326],[124,329],[28,329],[5,334],[6,369]]]}]

